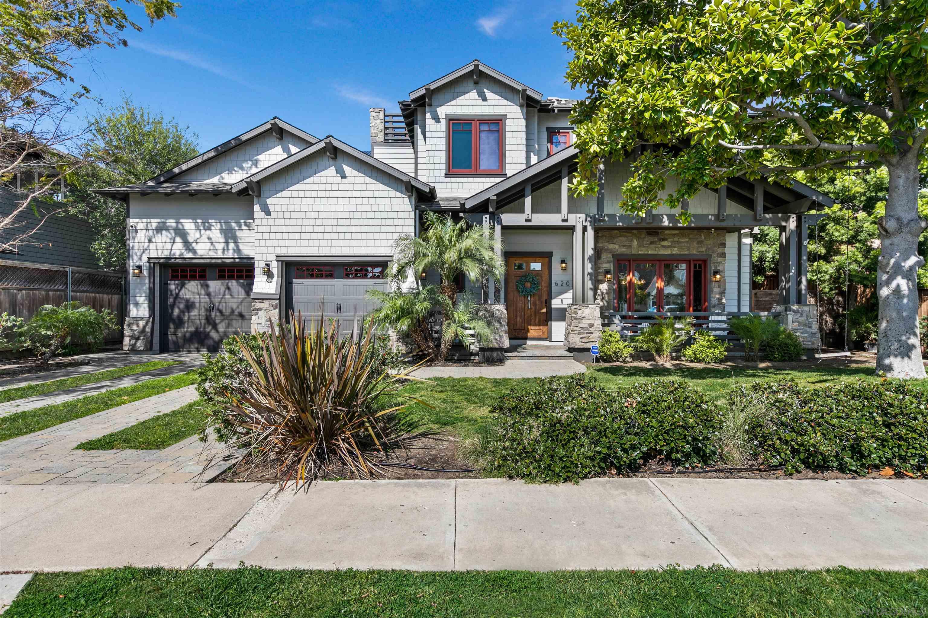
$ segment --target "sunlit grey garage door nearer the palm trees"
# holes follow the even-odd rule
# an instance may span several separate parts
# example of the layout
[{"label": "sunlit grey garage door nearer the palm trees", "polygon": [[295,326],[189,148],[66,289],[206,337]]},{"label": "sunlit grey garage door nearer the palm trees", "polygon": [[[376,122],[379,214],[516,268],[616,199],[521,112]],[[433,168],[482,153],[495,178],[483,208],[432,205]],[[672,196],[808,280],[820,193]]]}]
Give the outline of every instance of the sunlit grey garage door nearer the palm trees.
[{"label": "sunlit grey garage door nearer the palm trees", "polygon": [[367,297],[370,289],[387,290],[383,279],[385,263],[291,264],[290,309],[303,312],[303,318],[318,323],[319,316],[339,321],[342,335],[352,333],[354,318],[358,324],[378,303]]}]

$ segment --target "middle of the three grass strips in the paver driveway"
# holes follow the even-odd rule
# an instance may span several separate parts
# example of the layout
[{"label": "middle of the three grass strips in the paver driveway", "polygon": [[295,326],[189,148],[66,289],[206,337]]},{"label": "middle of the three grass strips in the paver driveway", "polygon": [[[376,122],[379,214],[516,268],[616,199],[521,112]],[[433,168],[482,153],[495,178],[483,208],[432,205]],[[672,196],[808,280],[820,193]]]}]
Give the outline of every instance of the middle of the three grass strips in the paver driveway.
[{"label": "middle of the three grass strips in the paver driveway", "polygon": [[178,373],[163,378],[154,378],[137,385],[113,388],[97,395],[87,395],[51,406],[15,412],[0,418],[0,442],[19,435],[32,434],[59,423],[110,410],[124,403],[130,403],[146,397],[158,395],[164,391],[174,390],[196,384],[197,372]]}]

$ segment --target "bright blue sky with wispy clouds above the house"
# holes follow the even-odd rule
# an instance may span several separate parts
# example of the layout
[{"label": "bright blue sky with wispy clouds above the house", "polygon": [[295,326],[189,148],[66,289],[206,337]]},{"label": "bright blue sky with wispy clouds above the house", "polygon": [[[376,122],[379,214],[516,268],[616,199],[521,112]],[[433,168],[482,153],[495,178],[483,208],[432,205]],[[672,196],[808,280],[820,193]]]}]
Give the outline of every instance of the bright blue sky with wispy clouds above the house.
[{"label": "bright blue sky with wispy clouds above the house", "polygon": [[[97,49],[74,76],[106,104],[121,91],[199,135],[200,149],[279,116],[367,150],[367,109],[396,101],[473,58],[545,96],[570,96],[569,55],[551,33],[574,3],[425,0],[186,0],[176,19]],[[93,106],[87,106],[91,111]]]}]

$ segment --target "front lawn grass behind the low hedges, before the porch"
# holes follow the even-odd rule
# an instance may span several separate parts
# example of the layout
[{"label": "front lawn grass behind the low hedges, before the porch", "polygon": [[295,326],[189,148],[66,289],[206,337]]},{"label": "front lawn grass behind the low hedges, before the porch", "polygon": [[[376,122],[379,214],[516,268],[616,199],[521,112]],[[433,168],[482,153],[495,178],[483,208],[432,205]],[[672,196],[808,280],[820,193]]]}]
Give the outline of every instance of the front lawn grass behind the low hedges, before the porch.
[{"label": "front lawn grass behind the low hedges, before the porch", "polygon": [[[818,367],[809,363],[802,369],[760,369],[760,368],[687,368],[666,369],[638,367],[634,365],[611,365],[588,370],[603,385],[618,387],[632,385],[642,380],[653,378],[677,378],[690,382],[716,401],[723,400],[728,391],[737,385],[757,381],[792,380],[800,385],[820,386],[835,382],[849,382],[857,379],[880,380],[868,367]],[[468,437],[489,419],[489,409],[503,393],[517,385],[535,382],[535,378],[433,378],[433,384],[410,383],[403,387],[406,395],[419,397],[431,404],[434,410],[412,404],[406,414],[423,428],[441,429],[461,437]],[[928,388],[928,380],[913,383],[918,388]],[[398,402],[397,402],[398,403]]]}]

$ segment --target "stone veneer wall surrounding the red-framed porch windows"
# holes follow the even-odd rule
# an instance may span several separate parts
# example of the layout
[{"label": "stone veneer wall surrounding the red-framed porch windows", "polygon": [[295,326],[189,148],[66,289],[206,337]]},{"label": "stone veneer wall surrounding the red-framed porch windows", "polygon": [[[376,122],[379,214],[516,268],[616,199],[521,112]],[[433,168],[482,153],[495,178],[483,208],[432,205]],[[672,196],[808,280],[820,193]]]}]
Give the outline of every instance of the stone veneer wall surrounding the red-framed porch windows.
[{"label": "stone veneer wall surrounding the red-framed porch windows", "polygon": [[602,311],[612,310],[613,282],[607,282],[603,273],[615,270],[613,255],[706,255],[706,275],[722,271],[721,281],[709,282],[709,310],[725,311],[725,234],[724,230],[597,230],[597,304]]}]

